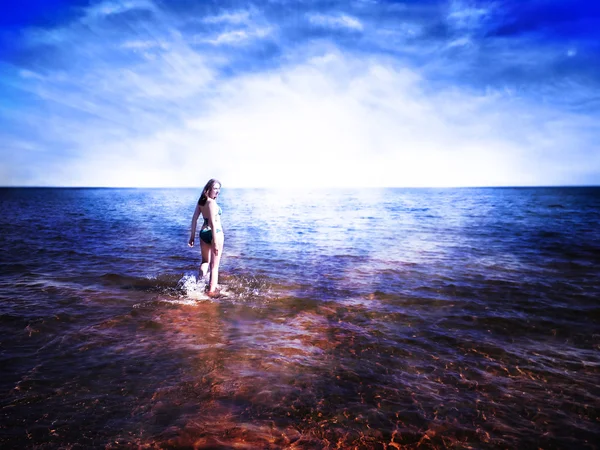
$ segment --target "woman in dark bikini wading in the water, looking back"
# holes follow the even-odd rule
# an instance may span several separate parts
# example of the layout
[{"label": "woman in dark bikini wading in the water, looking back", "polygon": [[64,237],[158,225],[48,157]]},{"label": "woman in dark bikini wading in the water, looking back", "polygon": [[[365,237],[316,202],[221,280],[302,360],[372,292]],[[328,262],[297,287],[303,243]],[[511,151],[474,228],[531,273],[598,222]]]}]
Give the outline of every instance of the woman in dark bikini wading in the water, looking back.
[{"label": "woman in dark bikini wading in the water, looking back", "polygon": [[202,252],[202,263],[200,264],[200,277],[204,278],[210,268],[210,281],[208,284],[208,296],[216,297],[217,284],[219,282],[219,262],[223,253],[223,242],[225,235],[221,227],[221,207],[217,205],[217,197],[221,191],[221,182],[214,178],[208,180],[200,200],[196,205],[192,217],[192,233],[188,245],[194,246],[194,235],[198,217],[202,214],[204,223],[200,228],[200,250]]}]

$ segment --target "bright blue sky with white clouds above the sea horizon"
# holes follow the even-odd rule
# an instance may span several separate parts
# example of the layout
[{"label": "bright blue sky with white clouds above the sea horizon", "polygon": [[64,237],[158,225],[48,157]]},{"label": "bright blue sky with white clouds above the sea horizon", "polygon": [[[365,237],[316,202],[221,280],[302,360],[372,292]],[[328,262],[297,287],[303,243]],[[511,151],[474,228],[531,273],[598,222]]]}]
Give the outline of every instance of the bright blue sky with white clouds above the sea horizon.
[{"label": "bright blue sky with white clouds above the sea horizon", "polygon": [[0,6],[0,186],[600,185],[600,2]]}]

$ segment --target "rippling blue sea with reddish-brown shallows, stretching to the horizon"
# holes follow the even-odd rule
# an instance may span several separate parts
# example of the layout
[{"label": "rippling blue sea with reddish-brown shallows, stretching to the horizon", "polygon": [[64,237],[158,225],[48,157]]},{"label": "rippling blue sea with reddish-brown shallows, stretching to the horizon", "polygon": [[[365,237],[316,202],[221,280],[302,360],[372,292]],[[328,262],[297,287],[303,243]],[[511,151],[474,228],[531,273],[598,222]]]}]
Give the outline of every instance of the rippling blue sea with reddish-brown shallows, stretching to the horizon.
[{"label": "rippling blue sea with reddish-brown shallows, stretching to the horizon", "polygon": [[0,448],[598,448],[600,188],[0,189]]}]

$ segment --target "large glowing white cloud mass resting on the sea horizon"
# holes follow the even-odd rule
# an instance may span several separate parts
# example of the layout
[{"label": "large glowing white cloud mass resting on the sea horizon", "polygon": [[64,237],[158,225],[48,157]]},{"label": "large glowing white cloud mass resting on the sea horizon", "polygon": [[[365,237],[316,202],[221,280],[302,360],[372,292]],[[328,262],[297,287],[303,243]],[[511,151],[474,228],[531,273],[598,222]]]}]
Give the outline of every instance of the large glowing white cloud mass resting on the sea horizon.
[{"label": "large glowing white cloud mass resting on the sea horizon", "polygon": [[539,155],[527,155],[565,143],[551,127],[539,140],[532,116],[519,113],[525,105],[501,93],[431,95],[416,73],[382,61],[318,62],[223,83],[183,124],[103,142],[110,159],[83,159],[71,172],[93,166],[98,182],[144,186],[195,185],[200,166],[229,186],[536,184]]}]

